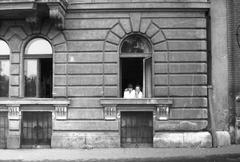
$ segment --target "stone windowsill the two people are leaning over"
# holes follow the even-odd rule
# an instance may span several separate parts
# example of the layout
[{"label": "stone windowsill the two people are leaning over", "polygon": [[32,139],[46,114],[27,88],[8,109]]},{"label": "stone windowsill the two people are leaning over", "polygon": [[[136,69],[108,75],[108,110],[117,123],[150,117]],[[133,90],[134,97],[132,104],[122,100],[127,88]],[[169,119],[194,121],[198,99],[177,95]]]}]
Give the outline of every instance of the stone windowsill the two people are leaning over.
[{"label": "stone windowsill the two people are leaning over", "polygon": [[104,98],[100,100],[102,105],[172,105],[172,98]]}]

